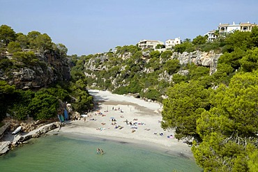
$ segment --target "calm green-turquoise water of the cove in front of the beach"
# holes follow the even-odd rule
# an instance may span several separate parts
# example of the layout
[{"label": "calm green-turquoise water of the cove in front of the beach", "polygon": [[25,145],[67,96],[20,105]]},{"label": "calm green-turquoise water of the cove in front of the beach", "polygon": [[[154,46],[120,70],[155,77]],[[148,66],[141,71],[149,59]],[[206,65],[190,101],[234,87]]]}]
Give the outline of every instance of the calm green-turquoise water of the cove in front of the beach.
[{"label": "calm green-turquoise water of the cove in front of the beach", "polygon": [[[102,148],[104,155],[97,155]],[[165,151],[165,150],[164,150]],[[202,171],[192,159],[126,142],[45,136],[0,157],[0,171]]]}]

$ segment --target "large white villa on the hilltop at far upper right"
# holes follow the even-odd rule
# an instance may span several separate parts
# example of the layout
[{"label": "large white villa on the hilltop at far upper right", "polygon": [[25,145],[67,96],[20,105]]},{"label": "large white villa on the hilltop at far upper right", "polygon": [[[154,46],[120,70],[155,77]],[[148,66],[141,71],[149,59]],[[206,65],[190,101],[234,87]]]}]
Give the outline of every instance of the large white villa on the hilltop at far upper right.
[{"label": "large white villa on the hilltop at far upper right", "polygon": [[[233,24],[220,23],[217,31],[209,31],[206,35],[208,36],[209,41],[213,41],[217,38],[217,35],[225,36],[227,33],[233,33],[234,31],[252,31],[252,27],[254,26],[257,26],[257,24],[250,24],[249,22],[239,24],[235,24],[235,22],[233,22]],[[216,32],[218,32],[218,34],[216,34]]]}]

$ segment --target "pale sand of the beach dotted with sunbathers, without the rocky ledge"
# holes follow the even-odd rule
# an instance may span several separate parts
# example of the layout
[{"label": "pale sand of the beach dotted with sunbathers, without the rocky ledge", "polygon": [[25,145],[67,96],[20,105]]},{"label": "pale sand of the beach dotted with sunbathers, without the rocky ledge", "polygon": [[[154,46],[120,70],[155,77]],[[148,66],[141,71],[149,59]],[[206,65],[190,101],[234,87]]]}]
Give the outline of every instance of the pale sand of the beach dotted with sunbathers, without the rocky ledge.
[{"label": "pale sand of the beach dotted with sunbathers, without the rocky ledge", "polygon": [[[142,143],[165,148],[173,153],[192,158],[190,147],[187,144],[174,138],[167,138],[170,134],[174,135],[174,132],[164,131],[160,127],[159,121],[162,120],[160,114],[161,104],[145,102],[142,99],[128,95],[115,95],[109,91],[90,90],[89,92],[93,95],[94,100],[98,102],[99,111],[103,116],[98,114],[98,111],[91,112],[88,114],[89,117],[86,117],[86,122],[84,122],[83,118],[72,121],[66,127],[61,128],[61,133]],[[123,112],[121,113],[118,109]],[[123,127],[121,130],[114,128],[116,125],[112,125],[111,117],[116,119],[116,125]],[[91,120],[93,118],[96,120]],[[133,120],[135,118],[137,120]],[[126,119],[128,120],[128,125],[124,122]],[[130,121],[137,123],[137,125],[131,126]],[[139,125],[139,123],[144,123],[144,125]],[[132,129],[132,127],[137,127],[137,129]],[[135,130],[135,132],[132,132],[132,130]],[[154,134],[155,132],[157,134]],[[164,135],[160,136],[160,133]]]}]

